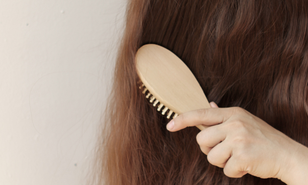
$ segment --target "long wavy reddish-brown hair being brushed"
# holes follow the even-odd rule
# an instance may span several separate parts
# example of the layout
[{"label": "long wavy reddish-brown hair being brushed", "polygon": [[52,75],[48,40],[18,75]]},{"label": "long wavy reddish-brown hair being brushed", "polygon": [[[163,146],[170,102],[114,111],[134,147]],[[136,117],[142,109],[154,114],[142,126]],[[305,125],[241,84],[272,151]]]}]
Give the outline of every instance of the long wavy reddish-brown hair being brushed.
[{"label": "long wavy reddish-brown hair being brushed", "polygon": [[197,128],[166,130],[139,89],[134,58],[148,43],[179,56],[209,101],[246,109],[308,146],[307,1],[129,1],[97,150],[98,184],[284,184],[229,178],[201,152]]}]

